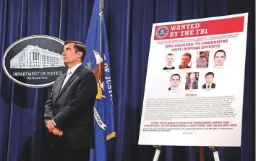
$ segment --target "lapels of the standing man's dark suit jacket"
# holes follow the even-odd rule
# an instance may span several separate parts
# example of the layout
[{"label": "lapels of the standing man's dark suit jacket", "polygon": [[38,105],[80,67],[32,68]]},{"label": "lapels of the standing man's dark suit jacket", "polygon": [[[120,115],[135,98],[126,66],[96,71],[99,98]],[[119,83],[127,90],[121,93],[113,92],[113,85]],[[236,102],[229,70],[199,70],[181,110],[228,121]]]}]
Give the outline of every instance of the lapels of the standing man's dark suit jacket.
[{"label": "lapels of the standing man's dark suit jacket", "polygon": [[57,93],[55,101],[59,98],[59,96],[61,96],[61,94],[63,93],[63,91],[65,91],[65,89],[69,86],[69,84],[72,83],[74,78],[77,77],[77,75],[78,75],[78,73],[80,72],[81,69],[82,69],[82,65],[80,65],[76,70],[74,70],[74,73],[71,75],[69,80],[67,80],[66,84],[64,85],[64,87],[62,89],[61,89],[61,86],[64,82],[64,79],[66,78],[66,75],[64,75],[64,77],[59,80],[61,83],[59,83],[59,86],[57,86],[57,88],[56,88],[56,91],[58,91],[59,93]]}]

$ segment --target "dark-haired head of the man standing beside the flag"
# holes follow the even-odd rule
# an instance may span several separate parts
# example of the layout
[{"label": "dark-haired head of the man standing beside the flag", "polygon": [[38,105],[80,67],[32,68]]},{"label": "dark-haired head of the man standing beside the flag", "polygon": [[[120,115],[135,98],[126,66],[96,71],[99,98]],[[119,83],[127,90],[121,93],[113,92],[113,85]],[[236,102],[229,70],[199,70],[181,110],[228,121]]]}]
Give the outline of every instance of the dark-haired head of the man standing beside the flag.
[{"label": "dark-haired head of the man standing beside the flag", "polygon": [[77,63],[81,63],[85,58],[85,45],[78,41],[64,42],[64,51],[62,52],[64,63],[72,68]]}]

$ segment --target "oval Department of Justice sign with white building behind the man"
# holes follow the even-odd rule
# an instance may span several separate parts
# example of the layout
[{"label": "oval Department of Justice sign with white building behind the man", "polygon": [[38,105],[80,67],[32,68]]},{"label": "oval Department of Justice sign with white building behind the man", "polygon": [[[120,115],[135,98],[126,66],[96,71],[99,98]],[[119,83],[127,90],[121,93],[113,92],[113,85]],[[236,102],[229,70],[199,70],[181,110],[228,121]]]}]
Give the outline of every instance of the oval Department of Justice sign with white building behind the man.
[{"label": "oval Department of Justice sign with white building behind the man", "polygon": [[43,88],[67,72],[62,56],[64,42],[56,37],[33,35],[12,43],[4,52],[4,73],[21,86]]}]

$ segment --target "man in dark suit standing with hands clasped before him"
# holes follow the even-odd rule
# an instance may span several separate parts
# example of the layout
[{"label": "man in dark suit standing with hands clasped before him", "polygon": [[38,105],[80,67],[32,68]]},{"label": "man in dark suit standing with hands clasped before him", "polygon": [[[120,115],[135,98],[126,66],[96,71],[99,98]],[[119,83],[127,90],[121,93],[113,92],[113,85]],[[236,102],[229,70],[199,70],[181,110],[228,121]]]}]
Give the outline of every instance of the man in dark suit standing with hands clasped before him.
[{"label": "man in dark suit standing with hands clasped before him", "polygon": [[[97,95],[95,75],[82,65],[85,45],[64,43],[67,74],[56,78],[45,106],[44,120],[51,134],[50,159],[55,161],[90,160],[95,147],[93,106]],[[51,132],[51,133],[50,133]]]}]

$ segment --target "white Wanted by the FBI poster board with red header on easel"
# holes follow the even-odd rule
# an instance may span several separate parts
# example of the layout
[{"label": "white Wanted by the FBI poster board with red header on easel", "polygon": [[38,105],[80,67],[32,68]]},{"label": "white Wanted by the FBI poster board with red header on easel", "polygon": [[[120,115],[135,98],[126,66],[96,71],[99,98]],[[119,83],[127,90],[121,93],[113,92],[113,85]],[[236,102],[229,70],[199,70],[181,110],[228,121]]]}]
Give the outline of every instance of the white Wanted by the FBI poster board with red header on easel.
[{"label": "white Wanted by the FBI poster board with red header on easel", "polygon": [[247,19],[153,24],[139,144],[241,146]]}]

